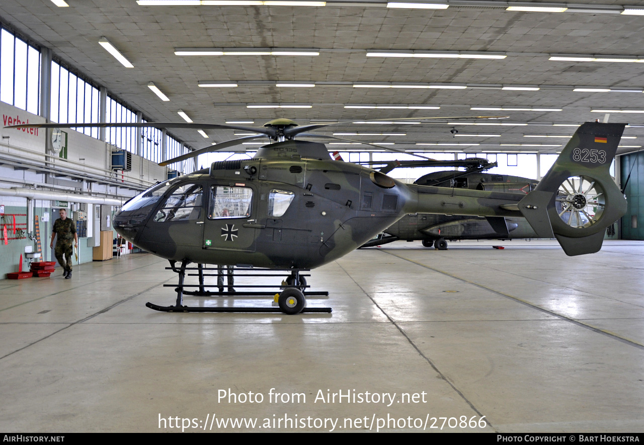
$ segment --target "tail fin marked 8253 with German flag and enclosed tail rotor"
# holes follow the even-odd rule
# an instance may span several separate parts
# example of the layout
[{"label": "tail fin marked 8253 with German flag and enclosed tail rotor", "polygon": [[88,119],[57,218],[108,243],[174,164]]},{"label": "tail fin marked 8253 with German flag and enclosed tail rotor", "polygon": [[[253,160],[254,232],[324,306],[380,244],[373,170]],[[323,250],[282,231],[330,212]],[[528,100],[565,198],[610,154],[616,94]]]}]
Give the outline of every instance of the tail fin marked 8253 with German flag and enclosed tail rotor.
[{"label": "tail fin marked 8253 with German flag and enclosed tail rotor", "polygon": [[585,122],[519,210],[541,238],[569,256],[601,249],[605,229],[626,213],[609,169],[626,124]]}]

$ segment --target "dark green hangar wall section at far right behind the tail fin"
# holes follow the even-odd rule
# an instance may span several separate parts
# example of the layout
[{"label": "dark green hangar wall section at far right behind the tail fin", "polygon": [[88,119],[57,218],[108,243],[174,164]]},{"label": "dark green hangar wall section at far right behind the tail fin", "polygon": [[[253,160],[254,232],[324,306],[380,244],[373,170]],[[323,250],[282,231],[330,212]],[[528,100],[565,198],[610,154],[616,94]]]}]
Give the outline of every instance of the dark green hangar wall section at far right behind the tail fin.
[{"label": "dark green hangar wall section at far right behind the tail fin", "polygon": [[620,156],[621,184],[626,184],[626,214],[621,218],[623,240],[644,240],[644,156],[643,152]]}]

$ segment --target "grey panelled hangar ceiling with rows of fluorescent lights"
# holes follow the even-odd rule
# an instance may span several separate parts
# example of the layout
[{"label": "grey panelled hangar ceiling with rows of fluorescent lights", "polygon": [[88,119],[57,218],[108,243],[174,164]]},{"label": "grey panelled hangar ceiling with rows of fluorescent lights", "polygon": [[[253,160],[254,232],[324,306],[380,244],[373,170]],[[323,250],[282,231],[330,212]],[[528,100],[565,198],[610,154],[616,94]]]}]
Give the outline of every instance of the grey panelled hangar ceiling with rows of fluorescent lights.
[{"label": "grey panelled hangar ceiling with rows of fluorescent lights", "polygon": [[[178,109],[183,109],[195,122],[250,119],[258,125],[276,117],[305,123],[309,120],[507,115],[505,122],[531,125],[457,125],[460,133],[454,138],[449,133],[452,126],[444,124],[350,125],[321,133],[403,132],[405,136],[349,137],[375,143],[395,142],[395,147],[400,149],[418,148],[413,145],[416,142],[477,142],[497,146],[475,146],[467,151],[480,153],[499,148],[553,153],[559,148],[498,147],[498,144],[560,144],[565,139],[524,135],[571,135],[573,127],[551,124],[603,119],[603,113],[593,113],[591,109],[644,109],[641,92],[644,63],[548,60],[551,54],[642,55],[644,59],[641,49],[644,48],[644,20],[638,15],[509,12],[502,2],[497,7],[450,6],[446,10],[394,9],[384,7],[384,3],[366,6],[329,3],[324,7],[139,6],[135,0],[68,0],[68,3],[70,7],[59,8],[50,0],[3,0],[0,20],[33,43],[52,48],[57,59],[156,121],[182,121],[176,113]],[[459,3],[468,5],[466,1]],[[619,4],[606,0],[589,2],[594,3]],[[107,37],[134,68],[124,68],[103,50],[98,43],[101,37]],[[324,51],[318,56],[178,56],[175,48],[322,48]],[[366,57],[367,50],[500,52],[507,57],[501,60]],[[241,83],[237,88],[200,88],[199,81]],[[274,86],[278,81],[321,83],[314,88],[278,88]],[[154,82],[170,101],[158,99],[147,88],[148,82]],[[353,82],[438,82],[468,88],[354,88]],[[542,88],[511,91],[501,90],[502,86]],[[572,91],[575,86],[640,92]],[[246,104],[311,104],[312,108],[249,109]],[[346,104],[425,104],[440,106],[440,109],[346,109]],[[480,106],[561,108],[562,111],[469,109]],[[611,113],[610,120],[643,125],[644,114]],[[466,133],[502,136],[463,136]],[[173,130],[173,134],[195,148],[234,138],[232,130],[209,130],[209,139],[194,130]],[[623,140],[622,145],[644,145],[641,144],[644,128],[627,128],[625,135],[638,138]],[[620,149],[621,152],[632,150]]]}]

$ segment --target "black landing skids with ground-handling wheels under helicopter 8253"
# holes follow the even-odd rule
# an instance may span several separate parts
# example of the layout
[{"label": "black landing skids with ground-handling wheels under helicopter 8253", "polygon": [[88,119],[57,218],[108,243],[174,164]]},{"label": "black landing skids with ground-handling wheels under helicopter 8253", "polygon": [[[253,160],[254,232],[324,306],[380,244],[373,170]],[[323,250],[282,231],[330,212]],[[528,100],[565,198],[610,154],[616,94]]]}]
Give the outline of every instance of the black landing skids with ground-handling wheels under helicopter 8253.
[{"label": "black landing skids with ground-handling wheels under helicopter 8253", "polygon": [[[208,270],[219,270],[220,268],[208,268],[204,267],[202,264],[198,264],[198,267],[187,267],[189,261],[184,260],[181,263],[181,267],[176,267],[175,261],[170,261],[171,267],[166,267],[166,270],[173,270],[179,275],[179,283],[177,285],[164,285],[164,287],[175,287],[176,290],[176,303],[174,306],[160,306],[155,305],[154,303],[146,303],[146,307],[149,307],[154,310],[159,310],[162,312],[283,312],[284,314],[301,314],[301,313],[330,313],[332,308],[330,307],[321,307],[321,308],[305,308],[306,298],[304,293],[306,292],[307,296],[328,296],[328,292],[309,292],[307,289],[310,287],[307,285],[307,280],[305,277],[310,275],[300,274],[302,270],[293,270],[293,269],[259,269],[252,267],[238,267],[236,270],[242,272],[254,272],[254,273],[242,273],[237,274],[236,276],[245,276],[245,277],[283,277],[284,273],[258,273],[258,272],[287,272],[289,276],[286,277],[284,281],[281,282],[281,285],[235,285],[238,288],[244,289],[256,289],[256,288],[276,288],[274,292],[252,292],[252,291],[236,291],[231,290],[231,286],[225,286],[228,288],[228,291],[224,291],[223,285],[206,285],[204,283],[204,277],[206,276],[217,276],[217,274],[208,274],[204,271]],[[185,271],[186,270],[198,270],[196,274],[188,274],[188,276],[198,276],[199,284],[198,285],[186,285],[185,281]],[[198,288],[197,290],[185,290],[185,288]],[[218,288],[218,292],[207,290],[207,288]],[[200,307],[200,306],[186,306],[184,305],[184,295],[185,296],[195,296],[195,297],[211,297],[211,298],[220,298],[220,297],[256,297],[256,296],[266,296],[273,297],[272,307],[237,307],[237,306],[227,306],[227,307]]]}]

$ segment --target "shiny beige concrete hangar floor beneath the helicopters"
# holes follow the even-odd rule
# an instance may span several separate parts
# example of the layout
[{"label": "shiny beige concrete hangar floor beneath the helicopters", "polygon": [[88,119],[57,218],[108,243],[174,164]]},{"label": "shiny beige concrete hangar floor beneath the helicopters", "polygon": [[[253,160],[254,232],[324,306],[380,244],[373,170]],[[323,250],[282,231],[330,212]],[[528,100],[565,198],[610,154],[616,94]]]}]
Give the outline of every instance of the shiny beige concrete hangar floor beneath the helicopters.
[{"label": "shiny beige concrete hangar floor beneath the helicopters", "polygon": [[149,254],[0,281],[0,430],[641,432],[644,243],[492,244],[354,251],[312,271],[332,314],[155,312]]}]

